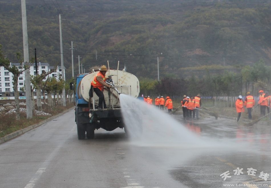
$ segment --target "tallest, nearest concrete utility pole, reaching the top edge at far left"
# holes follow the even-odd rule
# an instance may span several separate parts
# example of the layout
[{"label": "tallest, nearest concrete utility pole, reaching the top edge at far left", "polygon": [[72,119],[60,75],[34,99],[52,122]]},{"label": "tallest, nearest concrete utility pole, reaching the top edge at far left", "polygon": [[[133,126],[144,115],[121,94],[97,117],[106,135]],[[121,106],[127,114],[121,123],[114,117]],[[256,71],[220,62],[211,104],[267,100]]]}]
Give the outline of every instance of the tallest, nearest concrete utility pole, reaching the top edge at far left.
[{"label": "tallest, nearest concrete utility pole, reaching the top edge at far left", "polygon": [[[22,5],[22,22],[23,22],[23,57],[25,64],[29,64],[28,52],[28,36],[27,36],[27,19],[25,0],[21,0]],[[32,119],[32,100],[31,100],[31,85],[30,85],[30,70],[25,70],[25,95],[26,95],[26,117]]]}]

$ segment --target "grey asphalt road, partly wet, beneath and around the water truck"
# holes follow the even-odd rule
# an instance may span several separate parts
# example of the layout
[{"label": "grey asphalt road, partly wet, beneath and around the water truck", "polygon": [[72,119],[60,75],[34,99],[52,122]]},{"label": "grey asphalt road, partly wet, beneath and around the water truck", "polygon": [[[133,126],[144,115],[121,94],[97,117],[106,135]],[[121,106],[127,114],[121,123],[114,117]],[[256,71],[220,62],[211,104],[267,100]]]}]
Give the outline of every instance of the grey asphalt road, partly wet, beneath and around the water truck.
[{"label": "grey asphalt road, partly wet, beneath and around the water truck", "polygon": [[[195,133],[193,144],[189,139],[181,146],[134,142],[122,129],[99,129],[95,139],[78,140],[71,110],[0,145],[0,187],[227,187],[220,176],[226,171],[231,177],[225,181],[242,185],[265,181],[258,177],[262,171],[271,173],[270,126],[174,118]],[[159,143],[159,138],[152,139]],[[243,174],[234,175],[237,167]]]}]

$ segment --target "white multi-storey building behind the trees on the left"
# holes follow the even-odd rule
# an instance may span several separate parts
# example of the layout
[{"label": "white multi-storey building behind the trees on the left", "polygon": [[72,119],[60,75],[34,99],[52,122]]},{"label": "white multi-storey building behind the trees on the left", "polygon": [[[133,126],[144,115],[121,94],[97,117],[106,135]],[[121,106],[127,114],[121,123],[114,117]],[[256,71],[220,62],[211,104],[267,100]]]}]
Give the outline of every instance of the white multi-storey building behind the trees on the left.
[{"label": "white multi-storey building behind the trees on the left", "polygon": [[[23,66],[20,63],[11,63],[11,66],[15,65],[20,70],[23,69]],[[54,69],[54,67],[50,66],[48,63],[37,63],[38,67],[38,74],[41,74],[43,70],[46,72],[50,71],[50,69]],[[31,65],[30,67],[30,75],[36,75],[36,66],[35,63]],[[5,96],[14,96],[14,89],[13,89],[13,74],[9,72],[5,67],[0,67],[0,97]],[[59,77],[62,77],[62,70],[61,66],[57,66],[56,71],[46,76],[48,77],[55,77],[58,79]],[[44,80],[46,80],[46,78]],[[25,84],[25,72],[23,72],[19,78],[18,78],[18,91],[20,96],[24,96],[25,92],[22,91],[22,87],[24,87]],[[36,91],[36,90],[34,90]]]}]

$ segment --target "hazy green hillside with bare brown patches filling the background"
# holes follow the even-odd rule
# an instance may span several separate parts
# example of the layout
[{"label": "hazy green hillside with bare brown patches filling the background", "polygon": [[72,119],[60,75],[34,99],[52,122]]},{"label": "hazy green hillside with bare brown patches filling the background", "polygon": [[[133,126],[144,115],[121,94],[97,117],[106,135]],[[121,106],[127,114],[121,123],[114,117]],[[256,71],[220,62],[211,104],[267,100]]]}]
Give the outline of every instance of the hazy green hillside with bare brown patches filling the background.
[{"label": "hazy green hillside with bare brown patches filling the background", "polygon": [[[259,59],[271,65],[270,0],[26,3],[29,57],[34,57],[37,48],[38,61],[51,65],[60,64],[61,13],[66,78],[71,77],[71,41],[76,48],[75,73],[78,55],[86,71],[107,60],[117,68],[120,61],[127,71],[150,78],[157,78],[157,56],[160,78],[200,77],[206,69],[209,73],[240,72],[240,67]],[[23,54],[21,4],[1,1],[0,11],[0,44],[16,62],[16,52]]]}]

